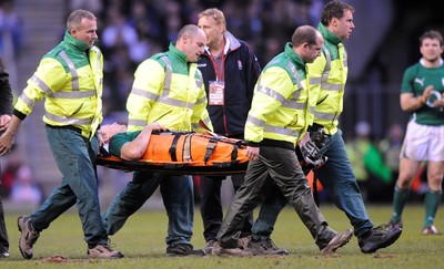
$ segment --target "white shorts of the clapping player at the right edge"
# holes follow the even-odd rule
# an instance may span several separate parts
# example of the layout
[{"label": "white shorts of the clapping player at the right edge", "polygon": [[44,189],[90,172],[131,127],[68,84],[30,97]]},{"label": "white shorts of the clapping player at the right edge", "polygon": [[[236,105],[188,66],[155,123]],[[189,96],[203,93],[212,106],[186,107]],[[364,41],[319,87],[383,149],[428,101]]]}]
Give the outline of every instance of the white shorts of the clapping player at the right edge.
[{"label": "white shorts of the clapping player at the right edge", "polygon": [[410,121],[401,158],[444,162],[444,126],[421,125]]}]

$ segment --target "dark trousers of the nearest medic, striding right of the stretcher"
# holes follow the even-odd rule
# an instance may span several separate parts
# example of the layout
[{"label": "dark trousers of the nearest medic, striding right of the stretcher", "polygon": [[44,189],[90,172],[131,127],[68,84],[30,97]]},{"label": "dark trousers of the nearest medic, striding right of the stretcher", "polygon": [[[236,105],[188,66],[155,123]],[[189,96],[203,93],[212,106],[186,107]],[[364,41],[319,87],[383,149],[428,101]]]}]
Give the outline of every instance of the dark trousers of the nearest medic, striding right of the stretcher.
[{"label": "dark trousers of the nearest medic, striding right of the stretcher", "polygon": [[234,195],[218,240],[223,248],[238,247],[242,223],[263,198],[262,187],[270,178],[280,187],[286,201],[309,229],[315,244],[323,249],[337,234],[331,229],[314,203],[312,190],[299,165],[294,149],[261,146],[258,159],[250,161],[246,177]]}]

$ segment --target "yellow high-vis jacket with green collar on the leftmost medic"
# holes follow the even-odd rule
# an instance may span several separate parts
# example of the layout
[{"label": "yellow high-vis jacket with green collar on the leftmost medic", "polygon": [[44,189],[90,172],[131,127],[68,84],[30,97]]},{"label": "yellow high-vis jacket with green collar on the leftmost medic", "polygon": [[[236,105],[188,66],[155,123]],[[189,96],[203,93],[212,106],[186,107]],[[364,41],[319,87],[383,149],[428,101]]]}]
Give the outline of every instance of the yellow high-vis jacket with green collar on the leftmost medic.
[{"label": "yellow high-vis jacket with green collar on the leftmost medic", "polygon": [[99,48],[74,39],[63,41],[46,54],[19,96],[14,115],[24,120],[36,102],[46,97],[43,122],[72,125],[91,138],[102,122],[103,56]]}]

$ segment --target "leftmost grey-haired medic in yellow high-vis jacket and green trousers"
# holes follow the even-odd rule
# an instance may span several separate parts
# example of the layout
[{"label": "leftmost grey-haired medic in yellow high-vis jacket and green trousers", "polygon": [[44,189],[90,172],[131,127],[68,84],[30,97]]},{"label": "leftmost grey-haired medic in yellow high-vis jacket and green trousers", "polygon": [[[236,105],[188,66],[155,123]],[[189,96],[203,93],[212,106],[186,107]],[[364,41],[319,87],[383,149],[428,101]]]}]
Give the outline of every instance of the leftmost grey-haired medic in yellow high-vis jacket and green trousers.
[{"label": "leftmost grey-haired medic in yellow high-vis jacket and green trousers", "polygon": [[[67,209],[77,205],[90,258],[122,258],[108,245],[101,218],[95,158],[102,122],[103,58],[94,45],[97,18],[78,9],[67,20],[60,44],[47,53],[19,96],[8,130],[0,136],[0,154],[9,152],[21,122],[44,100],[48,144],[62,175],[60,185],[29,216],[18,219],[19,249],[24,259],[33,245]],[[38,161],[37,161],[38,162]]]}]

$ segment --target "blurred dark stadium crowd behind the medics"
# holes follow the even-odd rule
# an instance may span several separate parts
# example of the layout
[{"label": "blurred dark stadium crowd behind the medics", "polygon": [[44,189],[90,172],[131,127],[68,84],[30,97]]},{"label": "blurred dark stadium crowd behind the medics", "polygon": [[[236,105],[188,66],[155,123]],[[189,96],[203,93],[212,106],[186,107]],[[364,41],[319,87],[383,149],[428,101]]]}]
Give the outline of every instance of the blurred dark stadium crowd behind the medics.
[{"label": "blurred dark stadium crowd behind the medics", "polygon": [[[125,101],[138,64],[165,51],[182,25],[198,22],[199,12],[213,7],[221,9],[228,30],[246,41],[264,66],[283,50],[296,27],[317,25],[325,2],[327,0],[0,0],[0,55],[18,95],[40,58],[61,41],[68,14],[79,8],[92,11],[99,19],[98,45],[105,59],[105,122],[124,123]],[[341,128],[366,199],[391,201],[397,173],[396,153],[408,118],[398,101],[402,74],[420,59],[422,32],[434,29],[444,33],[444,17],[432,0],[344,2],[355,8],[355,30],[345,42],[350,76]],[[60,179],[46,142],[42,106],[39,105],[34,115],[23,122],[16,151],[1,158],[2,194],[12,200],[12,186],[28,183],[19,189],[32,205],[38,205]],[[381,166],[375,167],[377,162]],[[421,199],[424,192],[422,174],[425,168],[418,170],[414,185],[417,195],[413,199]],[[129,173],[104,168],[99,173],[104,203],[130,178]]]}]

